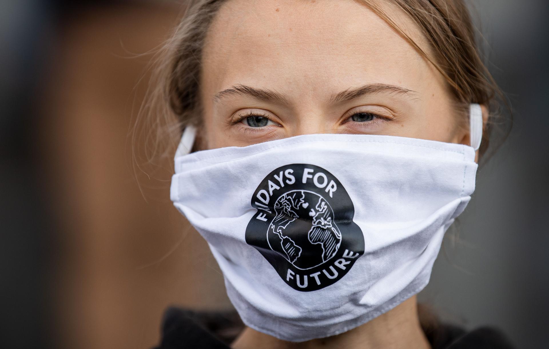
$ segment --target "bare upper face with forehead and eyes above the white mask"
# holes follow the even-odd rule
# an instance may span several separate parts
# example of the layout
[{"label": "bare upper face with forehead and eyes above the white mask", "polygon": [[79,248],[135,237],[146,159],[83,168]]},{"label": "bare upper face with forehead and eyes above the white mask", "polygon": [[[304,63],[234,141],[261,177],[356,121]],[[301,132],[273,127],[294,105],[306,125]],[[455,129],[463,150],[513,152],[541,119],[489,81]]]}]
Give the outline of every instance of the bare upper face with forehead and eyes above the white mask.
[{"label": "bare upper face with forehead and eyes above the white mask", "polygon": [[[430,53],[411,20],[399,21]],[[469,141],[440,73],[355,1],[229,0],[202,69],[208,149],[306,133]]]}]

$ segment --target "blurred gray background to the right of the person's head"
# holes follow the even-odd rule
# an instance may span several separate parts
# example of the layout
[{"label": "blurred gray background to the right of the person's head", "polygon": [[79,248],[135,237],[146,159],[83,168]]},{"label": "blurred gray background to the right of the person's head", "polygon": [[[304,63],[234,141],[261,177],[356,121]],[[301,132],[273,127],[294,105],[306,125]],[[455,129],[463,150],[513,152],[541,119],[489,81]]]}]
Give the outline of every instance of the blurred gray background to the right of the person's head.
[{"label": "blurred gray background to the right of the person's head", "polygon": [[514,125],[479,170],[458,239],[446,236],[421,300],[469,328],[496,325],[519,348],[547,348],[549,2],[472,3],[490,44],[490,71],[513,106]]}]

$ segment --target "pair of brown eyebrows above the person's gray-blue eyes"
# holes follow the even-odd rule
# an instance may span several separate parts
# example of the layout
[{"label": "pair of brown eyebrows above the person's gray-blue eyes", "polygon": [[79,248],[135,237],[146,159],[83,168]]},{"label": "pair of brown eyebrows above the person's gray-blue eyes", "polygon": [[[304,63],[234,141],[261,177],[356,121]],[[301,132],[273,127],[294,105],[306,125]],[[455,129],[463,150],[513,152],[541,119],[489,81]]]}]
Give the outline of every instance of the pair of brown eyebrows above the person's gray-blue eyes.
[{"label": "pair of brown eyebrows above the person's gray-blue eyes", "polygon": [[[405,87],[388,85],[386,83],[370,83],[360,87],[348,88],[345,91],[341,91],[336,94],[332,94],[328,99],[329,103],[343,103],[348,102],[349,100],[361,97],[362,95],[371,94],[371,93],[396,93],[396,94],[417,94],[416,91],[407,89]],[[249,95],[259,100],[264,100],[266,102],[278,102],[282,104],[289,104],[289,98],[287,95],[279,93],[272,89],[265,88],[256,88],[247,85],[237,84],[233,85],[230,88],[224,89],[221,92],[218,92],[214,95],[214,101],[219,102],[220,99],[227,95]]]}]

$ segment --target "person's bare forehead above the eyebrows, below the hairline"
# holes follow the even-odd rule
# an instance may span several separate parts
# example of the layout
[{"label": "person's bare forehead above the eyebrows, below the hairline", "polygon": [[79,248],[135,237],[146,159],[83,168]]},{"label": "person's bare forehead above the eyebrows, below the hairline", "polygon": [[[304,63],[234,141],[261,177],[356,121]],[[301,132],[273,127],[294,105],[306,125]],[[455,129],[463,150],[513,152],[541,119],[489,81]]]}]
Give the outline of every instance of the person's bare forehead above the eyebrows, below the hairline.
[{"label": "person's bare forehead above the eyebrows, below the hairline", "polygon": [[[420,47],[421,33],[388,8]],[[391,83],[420,91],[428,65],[366,5],[353,0],[228,0],[203,49],[203,97],[236,83],[318,98],[350,86]]]}]

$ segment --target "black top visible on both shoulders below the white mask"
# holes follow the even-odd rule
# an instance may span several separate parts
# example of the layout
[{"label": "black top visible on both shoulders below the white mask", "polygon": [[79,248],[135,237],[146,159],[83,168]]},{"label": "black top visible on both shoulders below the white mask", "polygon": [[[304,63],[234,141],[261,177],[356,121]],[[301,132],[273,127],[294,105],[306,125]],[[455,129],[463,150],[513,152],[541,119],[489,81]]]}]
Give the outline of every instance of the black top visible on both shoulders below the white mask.
[{"label": "black top visible on both shoulders below the white mask", "polygon": [[[229,349],[243,328],[236,311],[195,312],[170,307],[164,313],[160,345],[153,349]],[[501,331],[491,327],[466,331],[439,323],[423,330],[433,349],[513,349]]]}]

